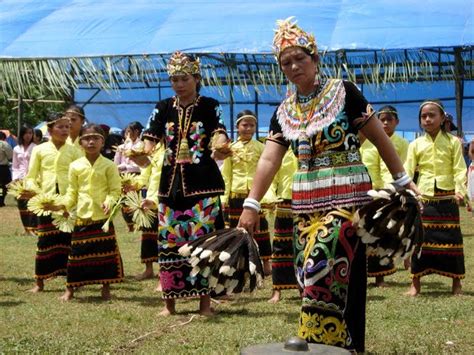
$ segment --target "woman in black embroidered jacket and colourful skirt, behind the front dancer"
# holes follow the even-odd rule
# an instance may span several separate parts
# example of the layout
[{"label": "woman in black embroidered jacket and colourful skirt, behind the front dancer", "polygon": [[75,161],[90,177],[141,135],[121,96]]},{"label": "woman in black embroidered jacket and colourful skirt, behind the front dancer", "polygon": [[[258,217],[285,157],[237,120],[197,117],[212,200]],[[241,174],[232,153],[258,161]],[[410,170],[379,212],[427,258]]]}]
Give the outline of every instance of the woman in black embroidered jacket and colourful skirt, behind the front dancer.
[{"label": "woman in black embroidered jacket and colourful skirt, behind the front dancer", "polygon": [[211,154],[225,158],[219,151],[224,151],[227,135],[219,103],[199,95],[199,60],[176,52],[168,62],[168,74],[176,96],[158,102],[150,120],[150,132],[165,143],[158,194],[143,204],[158,206],[158,260],[165,300],[161,314],[175,313],[176,298],[198,296],[200,313],[211,315],[208,280],[190,275],[188,258],[178,249],[224,227],[219,200],[224,181]]}]

